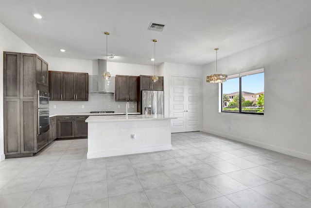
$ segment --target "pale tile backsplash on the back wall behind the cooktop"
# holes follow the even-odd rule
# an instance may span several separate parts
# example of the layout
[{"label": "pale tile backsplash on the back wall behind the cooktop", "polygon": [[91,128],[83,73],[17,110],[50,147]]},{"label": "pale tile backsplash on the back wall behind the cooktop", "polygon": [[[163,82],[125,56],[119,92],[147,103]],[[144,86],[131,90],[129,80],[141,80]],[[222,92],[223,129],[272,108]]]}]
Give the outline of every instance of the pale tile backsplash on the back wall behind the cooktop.
[{"label": "pale tile backsplash on the back wall behind the cooktop", "polygon": [[[137,102],[129,102],[128,112],[137,112]],[[57,113],[114,111],[125,112],[126,102],[116,102],[114,94],[88,94],[88,101],[50,101],[50,115]]]}]

